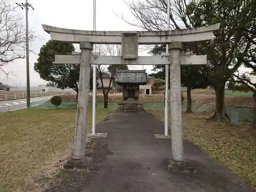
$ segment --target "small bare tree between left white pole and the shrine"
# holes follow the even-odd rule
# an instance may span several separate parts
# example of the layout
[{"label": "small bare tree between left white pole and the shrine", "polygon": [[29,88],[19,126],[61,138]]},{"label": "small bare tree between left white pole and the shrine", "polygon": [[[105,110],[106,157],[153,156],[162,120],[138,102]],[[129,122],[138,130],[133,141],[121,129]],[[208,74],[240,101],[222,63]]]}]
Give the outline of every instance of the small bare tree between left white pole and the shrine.
[{"label": "small bare tree between left white pole and the shrine", "polygon": [[[122,54],[120,45],[98,45],[96,51],[100,55],[118,56]],[[103,108],[108,108],[109,92],[113,88],[113,80],[116,69],[128,69],[127,65],[96,65],[97,76],[100,79],[100,87],[104,97]],[[104,84],[103,79],[109,79],[108,84]]]}]

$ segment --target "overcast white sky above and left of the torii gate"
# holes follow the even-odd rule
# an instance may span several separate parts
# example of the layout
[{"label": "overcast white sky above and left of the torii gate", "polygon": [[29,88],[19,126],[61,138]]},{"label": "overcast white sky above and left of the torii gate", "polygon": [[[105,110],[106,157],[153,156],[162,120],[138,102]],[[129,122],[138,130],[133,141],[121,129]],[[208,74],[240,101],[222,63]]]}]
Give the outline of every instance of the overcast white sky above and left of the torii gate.
[{"label": "overcast white sky above and left of the torii gate", "polygon": [[[23,3],[21,0],[10,0],[15,6],[15,3]],[[96,8],[96,30],[99,31],[128,31],[141,30],[139,28],[130,26],[123,22],[122,19],[116,16],[123,14],[127,19],[133,21],[129,9],[121,0],[97,0]],[[36,31],[36,35],[40,39],[32,42],[30,47],[35,53],[39,53],[40,47],[44,45],[49,39],[50,35],[46,33],[41,24],[51,25],[67,29],[93,30],[93,0],[29,0],[33,5],[34,11],[29,9],[29,28]],[[25,24],[25,10],[17,8],[20,14],[24,16]],[[75,46],[77,49],[79,46]],[[31,87],[38,86],[38,84],[45,84],[46,82],[40,79],[39,75],[33,70],[34,62],[36,62],[37,55],[30,53],[30,84]],[[147,73],[151,72],[153,66],[144,66]],[[130,69],[142,69],[142,66],[132,66]],[[9,84],[14,86],[26,86],[26,59],[15,60],[9,63],[5,70],[13,72],[15,75],[10,75]],[[7,79],[3,80],[3,75],[0,76],[0,82],[8,83]],[[14,82],[13,82],[14,81]]]}]

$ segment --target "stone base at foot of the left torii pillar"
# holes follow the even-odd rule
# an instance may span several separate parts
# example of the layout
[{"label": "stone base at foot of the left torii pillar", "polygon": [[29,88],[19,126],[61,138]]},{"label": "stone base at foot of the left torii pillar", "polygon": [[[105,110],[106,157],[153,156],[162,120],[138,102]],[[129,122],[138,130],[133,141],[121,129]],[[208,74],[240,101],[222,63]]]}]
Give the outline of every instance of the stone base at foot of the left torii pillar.
[{"label": "stone base at foot of the left torii pillar", "polygon": [[84,157],[84,159],[72,159],[70,158],[67,163],[65,163],[62,166],[63,169],[73,169],[73,168],[78,168],[78,169],[92,169],[93,168],[93,158],[92,157]]}]

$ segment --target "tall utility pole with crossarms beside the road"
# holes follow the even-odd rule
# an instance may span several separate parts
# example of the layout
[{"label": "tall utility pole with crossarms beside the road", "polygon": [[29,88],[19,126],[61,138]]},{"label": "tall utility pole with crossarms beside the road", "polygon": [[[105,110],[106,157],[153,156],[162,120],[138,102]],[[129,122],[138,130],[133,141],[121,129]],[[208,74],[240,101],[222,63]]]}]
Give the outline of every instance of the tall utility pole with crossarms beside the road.
[{"label": "tall utility pole with crossarms beside the road", "polygon": [[29,7],[34,10],[31,4],[16,3],[20,8],[26,10],[26,67],[27,67],[27,108],[30,109],[30,78],[29,78]]}]

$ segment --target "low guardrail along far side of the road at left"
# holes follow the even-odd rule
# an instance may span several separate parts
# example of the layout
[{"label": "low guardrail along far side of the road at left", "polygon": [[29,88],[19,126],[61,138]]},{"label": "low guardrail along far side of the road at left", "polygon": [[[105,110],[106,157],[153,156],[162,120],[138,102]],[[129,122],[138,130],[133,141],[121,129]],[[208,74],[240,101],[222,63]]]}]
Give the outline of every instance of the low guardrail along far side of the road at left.
[{"label": "low guardrail along far side of the road at left", "polygon": [[[41,97],[49,95],[46,92],[30,92],[30,97]],[[15,100],[27,98],[27,93],[1,93],[0,92],[0,101]]]}]

